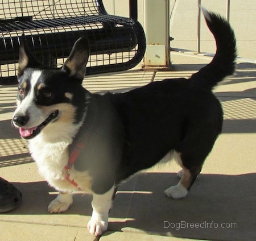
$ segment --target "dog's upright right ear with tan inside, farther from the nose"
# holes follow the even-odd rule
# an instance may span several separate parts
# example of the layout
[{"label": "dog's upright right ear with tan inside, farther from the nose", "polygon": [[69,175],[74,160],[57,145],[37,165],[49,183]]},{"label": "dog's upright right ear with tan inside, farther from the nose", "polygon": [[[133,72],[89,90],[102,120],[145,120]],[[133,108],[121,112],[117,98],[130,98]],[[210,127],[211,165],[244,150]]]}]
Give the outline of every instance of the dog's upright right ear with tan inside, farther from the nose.
[{"label": "dog's upright right ear with tan inside, farther from the nose", "polygon": [[65,61],[62,70],[67,72],[70,77],[74,77],[82,82],[89,55],[89,41],[85,37],[78,39],[73,45],[72,51]]}]

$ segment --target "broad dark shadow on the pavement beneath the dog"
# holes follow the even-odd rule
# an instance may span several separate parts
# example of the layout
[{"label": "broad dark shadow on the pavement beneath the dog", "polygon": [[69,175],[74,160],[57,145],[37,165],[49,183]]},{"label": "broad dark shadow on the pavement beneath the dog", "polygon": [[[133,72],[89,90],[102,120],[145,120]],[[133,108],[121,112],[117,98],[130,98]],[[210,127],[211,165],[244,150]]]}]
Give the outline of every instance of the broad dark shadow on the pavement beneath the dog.
[{"label": "broad dark shadow on the pavement beneath the dog", "polygon": [[[186,198],[172,200],[163,191],[179,181],[176,173],[137,174],[118,189],[109,231],[210,240],[243,240],[246,236],[246,240],[255,240],[255,180],[256,173],[200,174]],[[23,204],[9,215],[47,214],[47,205],[56,194],[48,194],[54,190],[46,182],[16,186],[22,190]],[[77,194],[65,214],[90,216],[90,201],[91,196]]]}]

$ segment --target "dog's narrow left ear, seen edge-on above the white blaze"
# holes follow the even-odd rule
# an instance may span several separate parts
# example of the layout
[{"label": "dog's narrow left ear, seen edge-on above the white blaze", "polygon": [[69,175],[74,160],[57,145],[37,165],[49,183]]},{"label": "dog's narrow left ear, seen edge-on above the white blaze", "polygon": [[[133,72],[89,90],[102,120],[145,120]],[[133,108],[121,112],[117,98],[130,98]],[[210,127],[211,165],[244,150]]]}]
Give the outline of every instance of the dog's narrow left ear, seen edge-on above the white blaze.
[{"label": "dog's narrow left ear, seen edge-on above the white blaze", "polygon": [[18,76],[22,76],[24,69],[27,67],[36,68],[40,66],[30,49],[28,49],[25,35],[23,34],[20,39]]}]

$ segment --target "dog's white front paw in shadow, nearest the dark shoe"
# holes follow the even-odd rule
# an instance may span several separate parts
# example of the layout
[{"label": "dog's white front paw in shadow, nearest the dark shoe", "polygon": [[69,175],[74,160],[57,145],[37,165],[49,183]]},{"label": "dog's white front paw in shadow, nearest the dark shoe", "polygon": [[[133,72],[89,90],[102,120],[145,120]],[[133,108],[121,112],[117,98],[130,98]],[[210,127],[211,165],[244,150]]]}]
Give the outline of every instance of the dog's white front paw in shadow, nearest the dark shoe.
[{"label": "dog's white front paw in shadow, nearest the dark shoe", "polygon": [[59,193],[55,200],[51,201],[48,206],[50,213],[62,213],[67,211],[69,206],[72,204],[73,198],[69,193]]}]

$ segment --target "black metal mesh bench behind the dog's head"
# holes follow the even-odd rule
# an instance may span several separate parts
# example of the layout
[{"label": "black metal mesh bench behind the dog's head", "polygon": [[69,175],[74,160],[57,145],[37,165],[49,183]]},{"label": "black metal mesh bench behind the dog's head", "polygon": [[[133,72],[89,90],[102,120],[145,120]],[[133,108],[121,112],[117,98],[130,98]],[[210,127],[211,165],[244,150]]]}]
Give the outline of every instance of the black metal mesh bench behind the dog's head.
[{"label": "black metal mesh bench behind the dog's head", "polygon": [[46,65],[60,67],[73,43],[86,36],[91,56],[86,74],[135,67],[146,39],[137,21],[137,0],[130,18],[106,13],[102,0],[6,0],[0,2],[0,85],[16,81],[20,37]]}]

